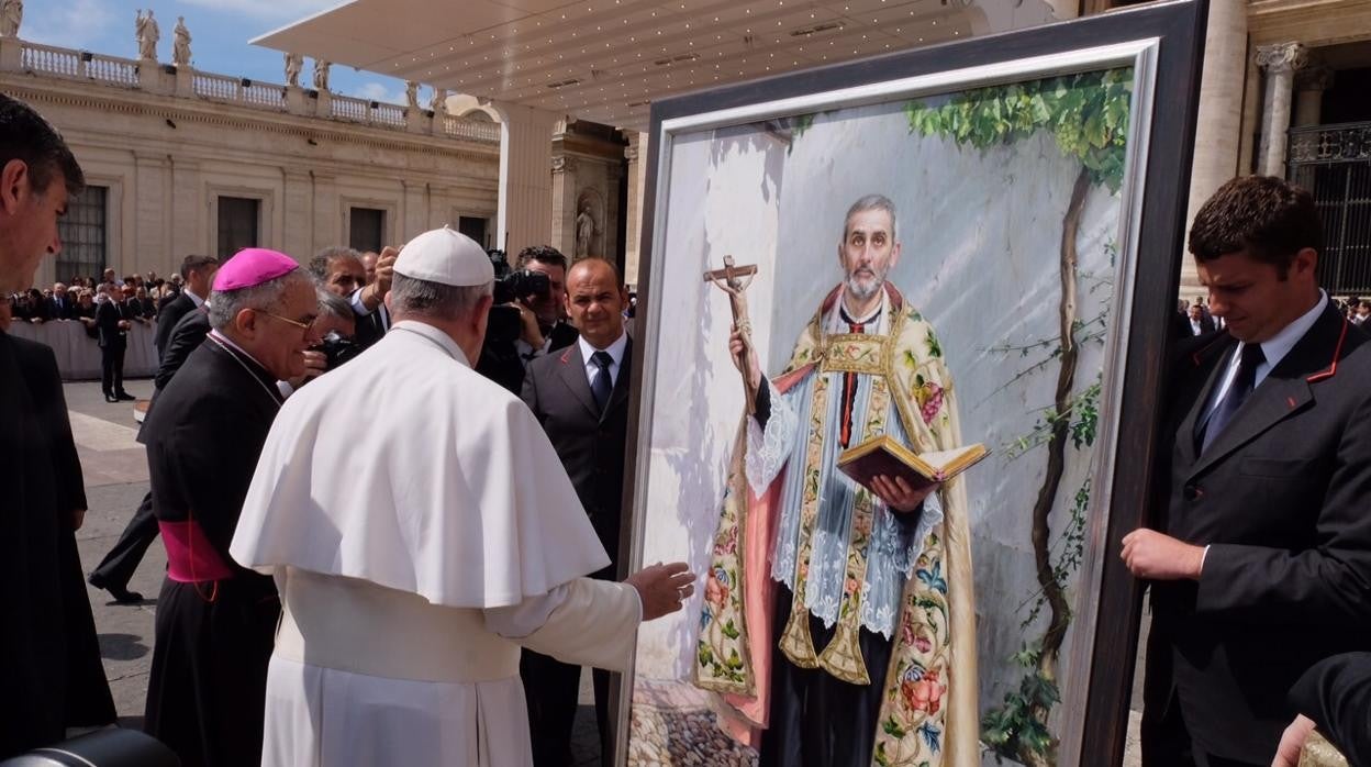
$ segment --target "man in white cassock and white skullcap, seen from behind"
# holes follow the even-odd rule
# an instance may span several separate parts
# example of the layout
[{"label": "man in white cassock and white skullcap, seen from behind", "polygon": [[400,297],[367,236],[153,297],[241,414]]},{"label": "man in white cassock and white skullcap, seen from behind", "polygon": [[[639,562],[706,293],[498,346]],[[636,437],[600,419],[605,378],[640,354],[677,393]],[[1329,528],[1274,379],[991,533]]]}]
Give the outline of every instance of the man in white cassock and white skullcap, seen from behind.
[{"label": "man in white cassock and white skullcap, seen from behind", "polygon": [[609,557],[557,453],[472,370],[492,279],[466,236],[413,239],[391,332],[271,427],[230,549],[281,594],[266,766],[531,764],[520,648],[624,670],[694,589],[585,578]]}]

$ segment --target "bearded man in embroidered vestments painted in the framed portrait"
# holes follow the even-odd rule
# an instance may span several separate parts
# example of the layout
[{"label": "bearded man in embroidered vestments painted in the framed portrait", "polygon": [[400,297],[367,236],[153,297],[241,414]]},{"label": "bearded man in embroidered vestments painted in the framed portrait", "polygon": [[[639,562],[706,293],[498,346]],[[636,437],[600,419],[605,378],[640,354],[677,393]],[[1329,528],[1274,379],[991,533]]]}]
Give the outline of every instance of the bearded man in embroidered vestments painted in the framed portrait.
[{"label": "bearded man in embroidered vestments painted in the framed portrait", "polygon": [[[761,766],[979,763],[968,506],[958,480],[860,486],[836,456],[888,435],[961,446],[932,325],[886,281],[895,206],[847,211],[843,281],[766,379],[735,443],[705,586],[696,683]],[[743,357],[747,357],[744,361]]]}]

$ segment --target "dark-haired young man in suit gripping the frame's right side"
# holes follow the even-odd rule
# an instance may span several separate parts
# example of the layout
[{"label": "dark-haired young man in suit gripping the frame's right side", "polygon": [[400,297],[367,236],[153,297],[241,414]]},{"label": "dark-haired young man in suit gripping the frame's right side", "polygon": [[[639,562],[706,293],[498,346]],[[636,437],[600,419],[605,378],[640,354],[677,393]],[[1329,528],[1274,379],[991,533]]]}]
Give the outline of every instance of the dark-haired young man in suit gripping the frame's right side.
[{"label": "dark-haired young man in suit gripping the frame's right side", "polygon": [[1290,686],[1371,628],[1371,346],[1319,288],[1320,248],[1312,198],[1281,178],[1235,178],[1196,215],[1227,327],[1182,350],[1156,530],[1123,539],[1153,591],[1145,764],[1270,764]]}]

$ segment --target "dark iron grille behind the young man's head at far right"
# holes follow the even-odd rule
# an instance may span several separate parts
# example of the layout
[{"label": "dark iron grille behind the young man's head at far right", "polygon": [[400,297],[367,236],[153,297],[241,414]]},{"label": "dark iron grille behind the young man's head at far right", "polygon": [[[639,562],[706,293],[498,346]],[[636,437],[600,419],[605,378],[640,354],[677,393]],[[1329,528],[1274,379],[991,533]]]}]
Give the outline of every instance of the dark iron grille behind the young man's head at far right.
[{"label": "dark iron grille behind the young man's head at far right", "polygon": [[1290,129],[1287,177],[1323,218],[1319,281],[1333,295],[1371,295],[1371,122]]}]

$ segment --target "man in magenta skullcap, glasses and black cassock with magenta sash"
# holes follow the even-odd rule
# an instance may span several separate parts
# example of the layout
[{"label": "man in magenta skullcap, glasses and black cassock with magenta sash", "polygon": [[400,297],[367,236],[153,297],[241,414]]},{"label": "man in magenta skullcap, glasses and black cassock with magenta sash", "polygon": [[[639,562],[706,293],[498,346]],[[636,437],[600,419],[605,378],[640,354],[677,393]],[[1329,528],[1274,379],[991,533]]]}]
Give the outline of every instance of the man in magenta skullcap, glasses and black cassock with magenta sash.
[{"label": "man in magenta skullcap, glasses and black cassock with magenta sash", "polygon": [[277,381],[302,376],[318,342],[318,298],[293,259],[248,248],[218,270],[208,306],[208,336],[141,434],[167,552],[145,727],[182,764],[256,764],[280,601],[229,541],[285,399]]}]

